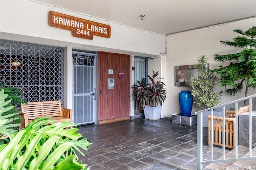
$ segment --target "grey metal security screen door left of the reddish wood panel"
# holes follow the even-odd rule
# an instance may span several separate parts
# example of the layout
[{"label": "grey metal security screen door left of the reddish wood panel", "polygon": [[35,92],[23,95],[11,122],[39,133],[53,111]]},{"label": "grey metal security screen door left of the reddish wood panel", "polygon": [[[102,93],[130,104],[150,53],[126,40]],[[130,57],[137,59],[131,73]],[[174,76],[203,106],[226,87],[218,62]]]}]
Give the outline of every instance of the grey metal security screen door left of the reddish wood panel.
[{"label": "grey metal security screen door left of the reddish wood panel", "polygon": [[96,54],[72,52],[73,108],[77,125],[96,122]]}]

